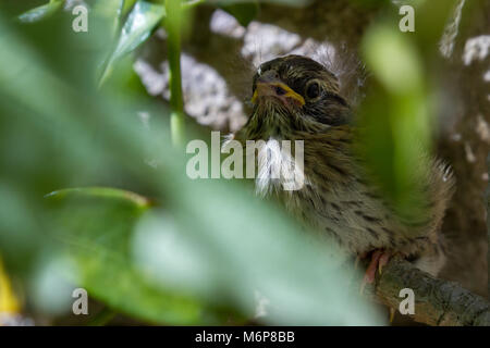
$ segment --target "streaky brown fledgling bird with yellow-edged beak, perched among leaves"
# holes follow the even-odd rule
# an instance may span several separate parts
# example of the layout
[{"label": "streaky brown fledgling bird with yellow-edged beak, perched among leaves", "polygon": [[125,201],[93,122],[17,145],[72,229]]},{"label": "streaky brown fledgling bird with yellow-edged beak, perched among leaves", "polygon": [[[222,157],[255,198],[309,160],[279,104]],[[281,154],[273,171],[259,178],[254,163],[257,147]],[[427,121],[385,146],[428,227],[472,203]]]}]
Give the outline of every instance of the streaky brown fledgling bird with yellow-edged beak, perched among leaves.
[{"label": "streaky brown fledgling bird with yellow-edged beak, perched among leaves", "polygon": [[[286,209],[329,243],[348,254],[371,254],[365,282],[391,254],[413,260],[437,275],[444,264],[439,234],[454,179],[437,159],[422,169],[425,187],[420,213],[407,219],[383,197],[354,151],[352,109],[340,95],[339,80],[322,64],[302,55],[278,58],[260,65],[253,80],[253,113],[232,138],[303,140],[304,185],[284,190],[281,179],[267,177],[268,161],[258,161],[257,191],[279,198]],[[273,165],[273,164],[272,164]],[[264,176],[266,173],[266,177]]]}]

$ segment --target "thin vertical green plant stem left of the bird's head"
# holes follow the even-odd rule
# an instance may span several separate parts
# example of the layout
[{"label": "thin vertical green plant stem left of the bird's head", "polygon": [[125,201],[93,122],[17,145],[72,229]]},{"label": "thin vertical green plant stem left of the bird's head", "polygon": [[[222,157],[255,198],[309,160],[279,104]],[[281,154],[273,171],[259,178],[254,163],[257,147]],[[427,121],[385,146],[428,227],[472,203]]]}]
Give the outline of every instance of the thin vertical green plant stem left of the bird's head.
[{"label": "thin vertical green plant stem left of the bird's head", "polygon": [[170,65],[170,107],[172,108],[170,130],[172,144],[174,146],[180,146],[183,144],[185,132],[181,77],[181,0],[166,0],[166,11],[167,46]]}]

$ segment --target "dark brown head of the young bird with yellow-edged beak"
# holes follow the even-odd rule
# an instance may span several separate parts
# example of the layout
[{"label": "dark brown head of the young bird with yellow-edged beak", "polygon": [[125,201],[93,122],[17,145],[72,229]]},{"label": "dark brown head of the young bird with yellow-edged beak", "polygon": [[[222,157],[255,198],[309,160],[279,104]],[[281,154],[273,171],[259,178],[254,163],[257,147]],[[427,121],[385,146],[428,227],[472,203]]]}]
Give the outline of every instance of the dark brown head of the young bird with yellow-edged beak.
[{"label": "dark brown head of the young bird with yellow-edged beak", "polygon": [[339,82],[320,63],[302,55],[278,58],[260,65],[253,80],[250,137],[287,132],[324,130],[348,122],[350,107]]}]

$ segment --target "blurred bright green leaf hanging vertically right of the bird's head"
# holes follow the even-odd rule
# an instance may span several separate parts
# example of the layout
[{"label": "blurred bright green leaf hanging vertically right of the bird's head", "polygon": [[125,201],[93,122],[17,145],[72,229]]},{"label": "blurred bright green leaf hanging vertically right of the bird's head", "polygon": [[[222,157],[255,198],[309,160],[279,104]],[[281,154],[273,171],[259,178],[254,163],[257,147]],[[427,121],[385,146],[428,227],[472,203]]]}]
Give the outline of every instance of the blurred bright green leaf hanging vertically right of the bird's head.
[{"label": "blurred bright green leaf hanging vertically right of the bird's head", "polygon": [[359,115],[360,152],[399,213],[413,223],[424,221],[430,114],[417,47],[397,28],[377,24],[362,48],[373,83]]}]

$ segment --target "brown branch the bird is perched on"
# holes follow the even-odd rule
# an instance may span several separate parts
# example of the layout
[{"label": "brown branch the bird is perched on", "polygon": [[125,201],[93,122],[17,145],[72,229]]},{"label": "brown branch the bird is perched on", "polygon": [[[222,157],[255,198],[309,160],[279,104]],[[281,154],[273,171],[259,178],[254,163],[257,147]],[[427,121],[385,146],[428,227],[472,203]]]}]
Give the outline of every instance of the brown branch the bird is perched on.
[{"label": "brown branch the bird is perched on", "polygon": [[393,259],[366,295],[383,304],[399,309],[404,299],[400,290],[411,288],[415,294],[416,322],[442,326],[490,326],[490,303],[481,296],[457,283],[438,279],[416,269],[405,260]]}]

